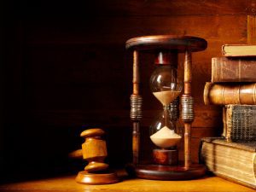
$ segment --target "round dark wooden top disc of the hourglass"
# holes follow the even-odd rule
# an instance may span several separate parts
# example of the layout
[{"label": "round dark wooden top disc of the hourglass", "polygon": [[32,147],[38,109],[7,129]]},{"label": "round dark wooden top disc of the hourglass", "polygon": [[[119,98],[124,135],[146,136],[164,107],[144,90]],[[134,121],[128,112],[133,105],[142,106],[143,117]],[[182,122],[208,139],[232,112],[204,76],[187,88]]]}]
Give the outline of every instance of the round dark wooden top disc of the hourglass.
[{"label": "round dark wooden top disc of the hourglass", "polygon": [[157,35],[130,38],[126,41],[126,49],[154,50],[173,49],[177,52],[192,52],[207,49],[207,41],[203,38],[177,35]]}]

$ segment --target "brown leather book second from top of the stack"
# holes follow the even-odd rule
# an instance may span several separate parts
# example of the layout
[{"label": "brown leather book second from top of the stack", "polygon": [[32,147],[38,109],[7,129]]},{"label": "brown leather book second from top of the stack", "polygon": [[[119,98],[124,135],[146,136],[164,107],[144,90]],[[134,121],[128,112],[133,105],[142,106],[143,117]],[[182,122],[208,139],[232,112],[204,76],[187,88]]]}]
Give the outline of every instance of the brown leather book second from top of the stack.
[{"label": "brown leather book second from top of the stack", "polygon": [[256,82],[256,58],[212,58],[212,82]]}]

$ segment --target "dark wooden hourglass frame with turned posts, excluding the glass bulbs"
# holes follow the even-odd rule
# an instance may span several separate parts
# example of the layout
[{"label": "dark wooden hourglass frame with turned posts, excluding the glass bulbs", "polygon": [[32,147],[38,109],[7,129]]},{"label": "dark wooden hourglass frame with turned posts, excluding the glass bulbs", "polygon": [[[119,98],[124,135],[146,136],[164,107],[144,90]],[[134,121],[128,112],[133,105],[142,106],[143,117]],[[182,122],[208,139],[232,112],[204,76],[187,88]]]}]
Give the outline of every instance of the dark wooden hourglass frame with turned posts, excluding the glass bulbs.
[{"label": "dark wooden hourglass frame with turned posts, excluding the glass bulbs", "polygon": [[[125,44],[126,49],[133,51],[133,92],[131,95],[131,121],[132,131],[132,171],[137,177],[158,180],[183,180],[201,177],[206,172],[206,167],[191,163],[190,130],[194,120],[194,99],[192,93],[192,58],[191,53],[207,49],[207,41],[203,38],[191,36],[145,36],[131,38]],[[170,61],[172,56],[177,58],[178,53],[184,53],[183,96],[181,96],[181,119],[184,123],[184,162],[179,166],[140,165],[140,120],[142,119],[143,98],[140,96],[140,70],[139,53],[152,52],[157,55],[156,60]],[[164,54],[170,53],[170,54]]]}]

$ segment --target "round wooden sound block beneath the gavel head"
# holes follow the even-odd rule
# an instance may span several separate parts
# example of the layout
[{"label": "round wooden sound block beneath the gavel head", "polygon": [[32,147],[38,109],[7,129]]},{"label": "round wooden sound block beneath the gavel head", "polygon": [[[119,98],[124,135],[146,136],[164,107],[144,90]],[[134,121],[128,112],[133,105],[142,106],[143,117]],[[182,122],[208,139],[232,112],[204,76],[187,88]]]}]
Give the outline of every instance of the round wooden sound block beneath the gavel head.
[{"label": "round wooden sound block beneath the gavel head", "polygon": [[82,184],[111,184],[118,183],[119,177],[115,172],[89,173],[84,171],[79,172],[76,182]]}]

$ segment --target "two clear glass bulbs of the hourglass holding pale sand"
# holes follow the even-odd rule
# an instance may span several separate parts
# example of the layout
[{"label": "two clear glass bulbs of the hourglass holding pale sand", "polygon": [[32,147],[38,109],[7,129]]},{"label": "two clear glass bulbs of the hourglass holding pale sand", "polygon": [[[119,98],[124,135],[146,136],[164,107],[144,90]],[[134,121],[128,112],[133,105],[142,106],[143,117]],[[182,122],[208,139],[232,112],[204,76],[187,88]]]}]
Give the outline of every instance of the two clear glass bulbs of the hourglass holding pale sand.
[{"label": "two clear glass bulbs of the hourglass holding pale sand", "polygon": [[175,131],[175,124],[172,123],[167,108],[181,93],[183,87],[182,84],[177,83],[177,57],[173,55],[176,54],[160,52],[156,60],[156,68],[150,78],[151,91],[164,106],[164,112],[151,126],[150,134],[151,141],[159,148],[175,146],[181,139]]}]

